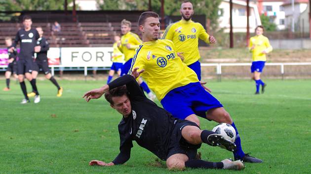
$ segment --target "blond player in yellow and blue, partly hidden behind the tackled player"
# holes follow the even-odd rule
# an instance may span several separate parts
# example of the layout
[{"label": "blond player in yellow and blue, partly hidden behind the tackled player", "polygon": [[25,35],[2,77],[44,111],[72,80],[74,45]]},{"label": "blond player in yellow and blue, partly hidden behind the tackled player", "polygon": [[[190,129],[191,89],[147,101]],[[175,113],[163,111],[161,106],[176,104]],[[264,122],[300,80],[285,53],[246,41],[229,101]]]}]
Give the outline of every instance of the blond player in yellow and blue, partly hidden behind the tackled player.
[{"label": "blond player in yellow and blue, partly hidden behind the tackled player", "polygon": [[[121,21],[121,42],[117,44],[119,50],[124,54],[124,60],[125,63],[123,64],[123,67],[121,69],[121,76],[128,73],[133,57],[135,55],[135,50],[139,47],[139,45],[142,43],[142,40],[140,40],[139,36],[135,33],[131,32],[131,22],[123,19]],[[151,92],[148,85],[141,79],[138,79],[138,84],[144,89],[144,91],[147,92],[149,98],[151,100],[154,100],[156,96]]]}]

